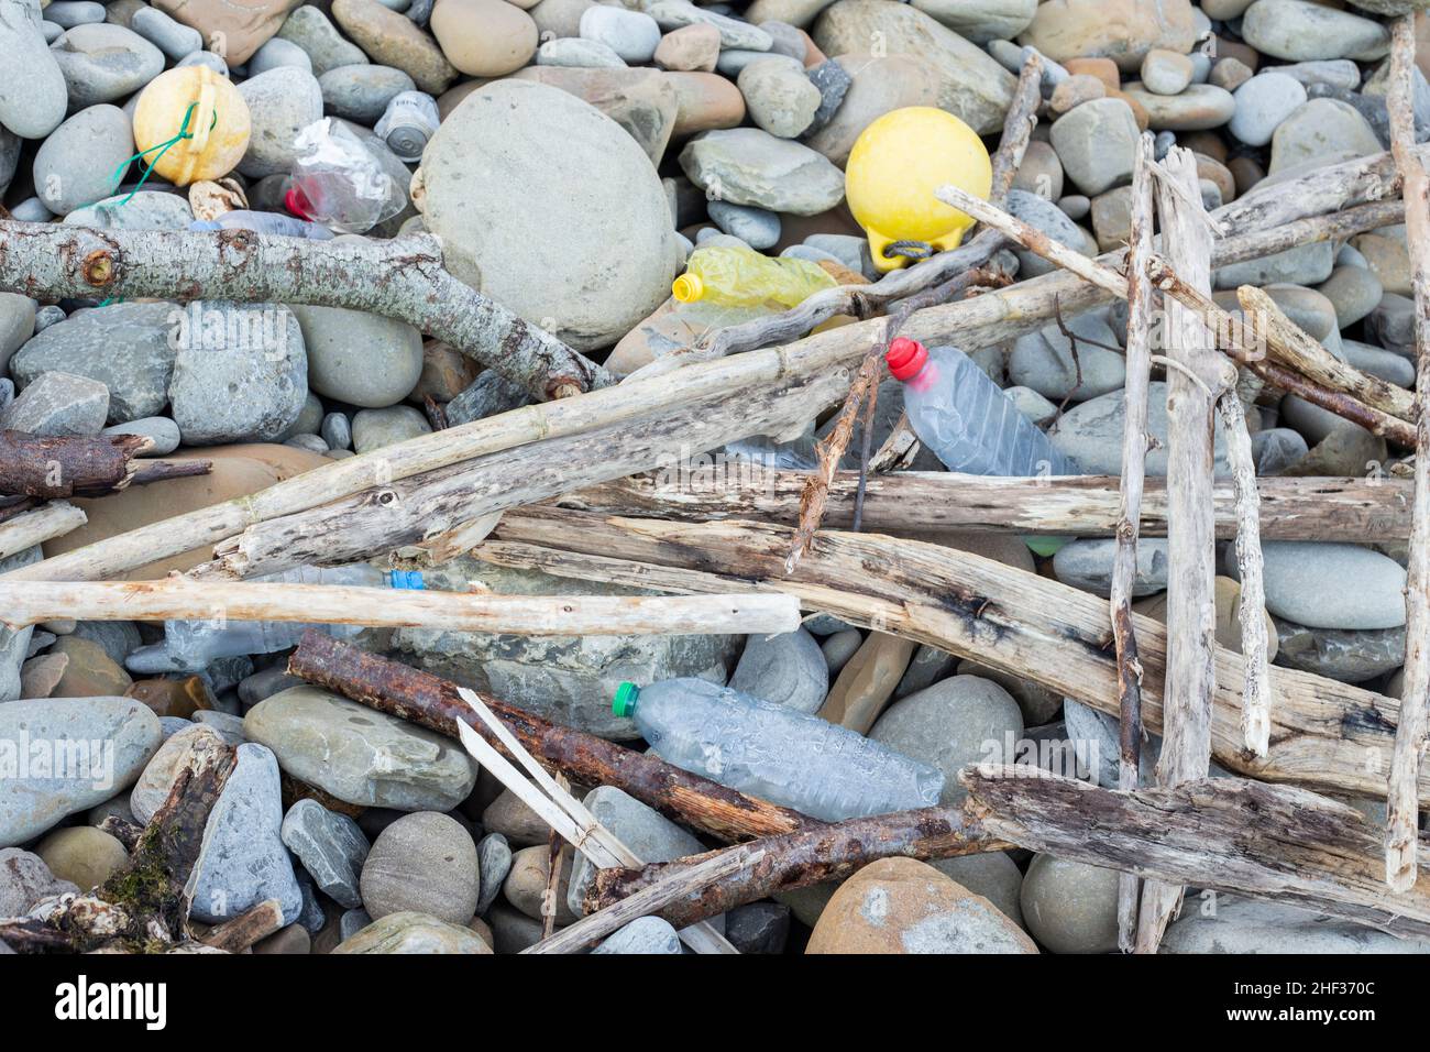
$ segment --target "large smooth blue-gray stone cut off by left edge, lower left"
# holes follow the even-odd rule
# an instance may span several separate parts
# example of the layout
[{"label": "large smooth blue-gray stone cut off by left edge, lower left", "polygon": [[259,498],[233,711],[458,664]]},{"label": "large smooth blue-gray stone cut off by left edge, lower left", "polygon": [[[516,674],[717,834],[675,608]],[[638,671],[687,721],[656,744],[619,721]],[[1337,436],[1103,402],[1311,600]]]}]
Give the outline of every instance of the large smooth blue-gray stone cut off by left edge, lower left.
[{"label": "large smooth blue-gray stone cut off by left edge, lower left", "polygon": [[109,800],[159,749],[159,717],[127,697],[0,704],[0,847]]}]

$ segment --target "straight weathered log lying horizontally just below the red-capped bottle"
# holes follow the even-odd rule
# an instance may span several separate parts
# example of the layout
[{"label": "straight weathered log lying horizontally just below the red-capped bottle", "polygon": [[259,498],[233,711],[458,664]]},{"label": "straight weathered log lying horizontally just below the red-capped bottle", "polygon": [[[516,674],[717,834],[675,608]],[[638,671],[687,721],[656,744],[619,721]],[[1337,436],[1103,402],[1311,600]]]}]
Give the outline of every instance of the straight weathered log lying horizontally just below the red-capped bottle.
[{"label": "straight weathered log lying horizontally just below the red-capped bottle", "polygon": [[[825,521],[854,520],[855,472],[835,475]],[[675,518],[686,522],[754,518],[792,525],[799,515],[804,474],[708,461],[689,472],[616,478],[563,494],[555,504],[606,515]],[[1167,535],[1167,481],[1144,482],[1138,531]],[[1261,535],[1281,541],[1390,541],[1410,535],[1409,479],[1257,479]],[[1217,537],[1237,532],[1236,487],[1211,491]],[[950,471],[871,475],[865,492],[868,530],[971,530],[1014,534],[1114,537],[1121,517],[1118,479],[1104,475],[998,478]]]}]

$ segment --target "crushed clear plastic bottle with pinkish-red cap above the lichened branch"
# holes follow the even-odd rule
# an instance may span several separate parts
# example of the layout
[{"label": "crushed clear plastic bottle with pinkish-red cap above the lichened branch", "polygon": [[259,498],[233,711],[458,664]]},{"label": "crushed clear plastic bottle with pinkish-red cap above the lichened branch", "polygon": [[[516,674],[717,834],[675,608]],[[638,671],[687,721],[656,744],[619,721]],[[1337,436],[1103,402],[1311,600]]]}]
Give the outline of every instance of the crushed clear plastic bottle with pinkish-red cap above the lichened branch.
[{"label": "crushed clear plastic bottle with pinkish-red cap above the lichened branch", "polygon": [[[287,206],[343,233],[366,233],[408,206],[408,192],[378,159],[388,145],[359,139],[332,117],[315,120],[293,140],[293,186]],[[390,153],[390,150],[388,150]]]}]

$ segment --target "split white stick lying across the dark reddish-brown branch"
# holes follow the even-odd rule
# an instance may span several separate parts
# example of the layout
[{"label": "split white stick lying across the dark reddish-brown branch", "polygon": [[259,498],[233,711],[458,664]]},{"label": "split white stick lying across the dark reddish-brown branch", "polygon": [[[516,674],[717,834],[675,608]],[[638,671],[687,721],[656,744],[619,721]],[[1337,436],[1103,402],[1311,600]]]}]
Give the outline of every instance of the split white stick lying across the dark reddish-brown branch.
[{"label": "split white stick lying across the dark reddish-brown branch", "polygon": [[[641,859],[635,852],[621,843],[619,837],[602,826],[585,804],[576,800],[556,779],[546,773],[545,767],[536,763],[532,754],[522,747],[516,736],[506,729],[476,691],[459,687],[458,697],[466,701],[496,740],[518,759],[533,781],[522,777],[521,771],[506,761],[506,757],[498,753],[496,749],[488,744],[468,724],[458,723],[458,734],[460,736],[462,746],[526,806],[541,814],[546,820],[546,824],[552,827],[553,834],[559,834],[571,843],[573,849],[591,859],[591,863],[596,867],[608,869],[611,866],[641,865]],[[548,892],[553,893],[556,886],[553,882],[559,880],[561,876],[559,850],[552,852],[551,873],[556,875],[551,877],[552,883],[548,885]],[[548,916],[548,920],[555,920],[555,910]],[[543,937],[549,939],[551,932],[545,932]],[[699,925],[689,935],[682,933],[681,939],[698,953],[736,952],[725,936],[711,925]]]}]

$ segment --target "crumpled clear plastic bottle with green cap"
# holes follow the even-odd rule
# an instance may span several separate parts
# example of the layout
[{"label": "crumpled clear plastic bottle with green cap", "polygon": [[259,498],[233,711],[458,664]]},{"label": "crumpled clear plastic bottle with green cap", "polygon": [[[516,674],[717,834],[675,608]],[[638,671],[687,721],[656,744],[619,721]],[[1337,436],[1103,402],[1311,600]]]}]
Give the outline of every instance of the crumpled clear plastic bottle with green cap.
[{"label": "crumpled clear plastic bottle with green cap", "polygon": [[937,767],[706,680],[622,683],[611,710],[676,767],[825,822],[934,807],[944,792]]}]

